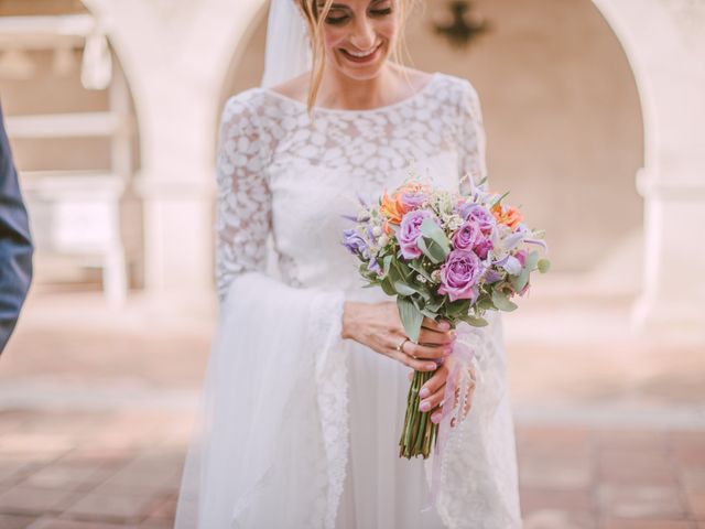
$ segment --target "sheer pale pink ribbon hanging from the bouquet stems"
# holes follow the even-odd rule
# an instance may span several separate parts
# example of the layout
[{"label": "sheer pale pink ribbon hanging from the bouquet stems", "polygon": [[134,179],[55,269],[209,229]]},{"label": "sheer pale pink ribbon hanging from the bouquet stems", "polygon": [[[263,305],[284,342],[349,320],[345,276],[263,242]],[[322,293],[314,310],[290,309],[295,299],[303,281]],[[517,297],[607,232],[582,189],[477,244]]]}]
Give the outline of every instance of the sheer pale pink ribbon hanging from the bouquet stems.
[{"label": "sheer pale pink ribbon hanging from the bouquet stems", "polygon": [[[464,341],[458,333],[458,339],[455,343],[453,353],[448,358],[453,358],[453,367],[448,373],[448,378],[445,382],[445,392],[443,395],[443,411],[441,414],[441,421],[438,422],[438,432],[436,438],[436,444],[433,451],[433,467],[431,471],[431,489],[429,493],[429,506],[422,509],[422,512],[430,510],[432,507],[436,507],[438,500],[438,494],[441,492],[441,477],[443,473],[443,457],[445,455],[446,444],[451,438],[451,429],[458,427],[465,419],[463,417],[463,410],[465,409],[468,400],[468,380],[464,374],[470,368],[475,361],[475,350],[471,348],[469,341]],[[476,377],[479,374],[476,369]],[[457,388],[457,381],[460,379],[460,388],[458,391],[458,403],[452,406],[455,402],[455,390]],[[469,413],[469,412],[468,412]]]}]

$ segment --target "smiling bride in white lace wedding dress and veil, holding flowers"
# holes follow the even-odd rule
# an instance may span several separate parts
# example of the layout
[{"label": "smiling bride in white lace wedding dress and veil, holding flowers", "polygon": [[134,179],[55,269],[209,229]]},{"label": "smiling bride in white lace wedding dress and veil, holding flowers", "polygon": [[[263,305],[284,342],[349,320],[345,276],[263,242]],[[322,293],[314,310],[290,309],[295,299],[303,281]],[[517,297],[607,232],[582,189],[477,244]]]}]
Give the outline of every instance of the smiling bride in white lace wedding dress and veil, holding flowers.
[{"label": "smiling bride in white lace wedding dress and veil, holding flowers", "polygon": [[446,188],[486,172],[470,84],[394,61],[408,1],[273,0],[263,87],[225,106],[220,317],[178,529],[521,525],[499,317],[476,332],[473,409],[424,509],[432,460],[399,457],[408,374],[434,371],[422,409],[437,421],[454,333],[425,320],[410,342],[340,245],[341,215],[401,184],[411,160]]}]

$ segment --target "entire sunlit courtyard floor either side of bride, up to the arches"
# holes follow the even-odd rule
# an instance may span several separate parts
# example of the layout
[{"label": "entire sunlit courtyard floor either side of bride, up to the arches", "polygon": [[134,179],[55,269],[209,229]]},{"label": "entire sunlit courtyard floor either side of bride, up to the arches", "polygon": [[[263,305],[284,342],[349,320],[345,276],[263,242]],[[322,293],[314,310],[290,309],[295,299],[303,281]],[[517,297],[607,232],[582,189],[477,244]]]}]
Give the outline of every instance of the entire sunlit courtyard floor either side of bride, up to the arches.
[{"label": "entire sunlit courtyard floor either side of bride, up to the arches", "polygon": [[[0,358],[0,529],[172,527],[212,314],[161,311],[30,300]],[[525,314],[533,334],[507,326],[525,529],[705,529],[701,349],[543,343]]]}]

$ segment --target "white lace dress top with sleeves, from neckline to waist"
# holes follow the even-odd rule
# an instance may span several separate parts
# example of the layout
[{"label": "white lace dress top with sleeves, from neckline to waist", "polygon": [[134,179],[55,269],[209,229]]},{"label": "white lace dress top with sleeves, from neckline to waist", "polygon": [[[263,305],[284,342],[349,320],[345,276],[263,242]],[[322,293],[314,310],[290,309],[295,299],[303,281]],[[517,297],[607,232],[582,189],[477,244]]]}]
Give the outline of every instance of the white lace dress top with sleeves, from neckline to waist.
[{"label": "white lace dress top with sleeves, from neckline to waist", "polygon": [[477,94],[467,80],[434,74],[409,99],[373,110],[318,108],[254,88],[224,109],[217,159],[217,288],[263,270],[273,236],[284,281],[352,289],[354,260],[340,247],[358,196],[376,199],[410,166],[456,187],[485,173]]}]

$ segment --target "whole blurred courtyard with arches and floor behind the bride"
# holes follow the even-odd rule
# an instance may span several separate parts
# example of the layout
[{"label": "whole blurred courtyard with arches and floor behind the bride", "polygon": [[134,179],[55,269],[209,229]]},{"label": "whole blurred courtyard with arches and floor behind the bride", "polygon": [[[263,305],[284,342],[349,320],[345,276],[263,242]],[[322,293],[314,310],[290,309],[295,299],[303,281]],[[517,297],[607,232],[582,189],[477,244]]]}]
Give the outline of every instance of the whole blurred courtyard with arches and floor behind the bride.
[{"label": "whole blurred courtyard with arches and floor behind the bride", "polygon": [[[0,528],[171,527],[216,317],[219,111],[267,0],[0,0],[36,244],[0,360]],[[705,528],[705,2],[427,0],[553,269],[505,317],[527,528]]]}]

